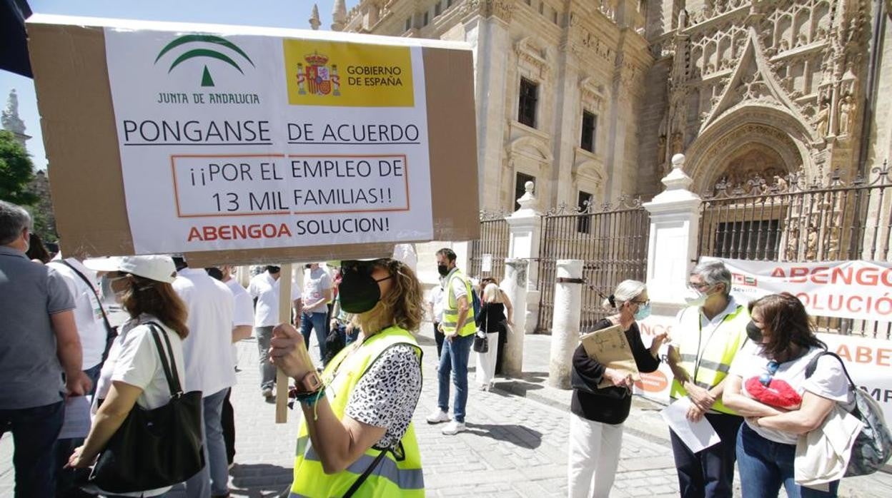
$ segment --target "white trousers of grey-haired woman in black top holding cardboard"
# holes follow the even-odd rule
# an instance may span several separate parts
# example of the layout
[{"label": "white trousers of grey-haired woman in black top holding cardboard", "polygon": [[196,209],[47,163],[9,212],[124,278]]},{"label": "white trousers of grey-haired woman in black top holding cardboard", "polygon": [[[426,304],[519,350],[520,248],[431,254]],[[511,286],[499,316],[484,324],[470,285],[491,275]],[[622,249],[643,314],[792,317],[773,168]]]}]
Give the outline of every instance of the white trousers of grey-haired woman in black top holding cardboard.
[{"label": "white trousers of grey-haired woman in black top holding cardboard", "polygon": [[623,424],[610,425],[570,413],[567,483],[570,498],[607,498],[613,487]]}]

